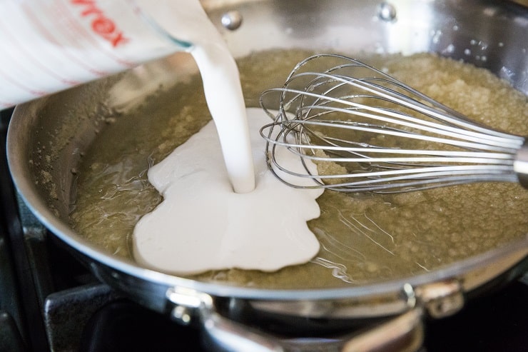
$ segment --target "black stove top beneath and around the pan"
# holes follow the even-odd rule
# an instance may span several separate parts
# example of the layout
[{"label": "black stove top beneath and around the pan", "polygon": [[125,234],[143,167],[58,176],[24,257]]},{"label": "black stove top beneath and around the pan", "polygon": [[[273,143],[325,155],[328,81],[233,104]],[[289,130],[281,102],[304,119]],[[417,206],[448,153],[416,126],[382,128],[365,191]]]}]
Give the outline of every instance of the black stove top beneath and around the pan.
[{"label": "black stove top beneath and around the pan", "polygon": [[[0,111],[0,351],[209,351],[200,331],[100,283],[32,218],[6,165],[11,111]],[[426,322],[420,352],[528,351],[528,276]]]}]

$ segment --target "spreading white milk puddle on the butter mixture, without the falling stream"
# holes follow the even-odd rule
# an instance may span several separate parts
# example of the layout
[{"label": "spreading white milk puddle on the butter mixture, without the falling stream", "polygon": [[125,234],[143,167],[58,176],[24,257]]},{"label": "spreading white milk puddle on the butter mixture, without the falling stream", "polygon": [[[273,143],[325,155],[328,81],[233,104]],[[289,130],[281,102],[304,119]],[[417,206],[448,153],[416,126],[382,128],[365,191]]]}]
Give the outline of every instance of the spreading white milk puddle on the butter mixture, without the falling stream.
[{"label": "spreading white milk puddle on the butter mixture, without the falling stream", "polygon": [[[278,181],[265,164],[265,141],[259,134],[269,118],[260,109],[248,109],[248,120],[255,190],[232,191],[210,122],[148,171],[164,200],[136,225],[138,262],[178,274],[225,268],[275,271],[318,253],[318,239],[306,221],[319,216],[315,198],[323,190],[300,190]],[[280,156],[287,158],[281,164],[303,168],[293,154]]]}]

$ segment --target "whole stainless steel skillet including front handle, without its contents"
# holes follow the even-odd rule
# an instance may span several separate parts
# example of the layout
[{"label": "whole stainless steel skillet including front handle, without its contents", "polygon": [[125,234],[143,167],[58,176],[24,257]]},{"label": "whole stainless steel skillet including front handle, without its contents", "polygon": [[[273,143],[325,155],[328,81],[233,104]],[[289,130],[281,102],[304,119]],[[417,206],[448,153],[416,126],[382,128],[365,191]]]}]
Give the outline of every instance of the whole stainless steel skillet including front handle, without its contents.
[{"label": "whole stainless steel skillet including front handle, without its contents", "polygon": [[[487,67],[528,93],[528,10],[516,4],[461,4],[454,0],[209,0],[203,4],[235,56],[275,48],[403,54],[435,51]],[[220,23],[225,14],[233,29],[225,29]],[[242,18],[238,29],[234,14]],[[405,351],[420,345],[424,316],[441,318],[456,313],[468,298],[526,271],[528,237],[419,276],[310,290],[266,290],[195,281],[141,268],[101,251],[78,236],[68,220],[74,180],[71,171],[98,130],[104,128],[101,116],[107,111],[101,102],[107,101],[116,87],[119,102],[138,99],[149,93],[148,87],[156,89],[159,83],[183,79],[188,67],[188,58],[176,54],[124,76],[16,108],[9,126],[8,157],[19,193],[39,221],[101,281],[183,323],[194,321],[223,348],[241,350],[243,343],[250,341],[264,351],[320,345],[373,351],[384,343],[387,350],[397,350],[397,343],[402,343],[400,351]],[[49,158],[42,156],[43,148]],[[374,335],[352,338],[345,333],[345,328],[370,326],[372,321],[387,318],[393,320],[378,326]],[[301,336],[319,331],[321,335],[332,333],[332,338],[285,341],[270,331],[258,331],[270,321],[285,329],[297,328]],[[334,338],[337,335],[339,338]]]}]

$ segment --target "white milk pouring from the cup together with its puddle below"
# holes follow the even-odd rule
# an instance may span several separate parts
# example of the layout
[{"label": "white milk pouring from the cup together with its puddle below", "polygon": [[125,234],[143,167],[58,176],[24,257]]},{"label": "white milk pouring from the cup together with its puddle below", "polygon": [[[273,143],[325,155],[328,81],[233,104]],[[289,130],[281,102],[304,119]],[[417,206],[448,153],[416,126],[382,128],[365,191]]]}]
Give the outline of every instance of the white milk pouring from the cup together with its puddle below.
[{"label": "white milk pouring from the cup together with its puddle below", "polygon": [[[148,171],[163,202],[134,229],[136,260],[178,274],[309,261],[319,243],[306,221],[319,216],[323,191],[290,188],[268,171],[259,134],[268,116],[245,109],[235,60],[200,2],[178,1],[177,13],[164,29],[194,44],[213,121]],[[303,168],[291,153],[280,157]]]}]

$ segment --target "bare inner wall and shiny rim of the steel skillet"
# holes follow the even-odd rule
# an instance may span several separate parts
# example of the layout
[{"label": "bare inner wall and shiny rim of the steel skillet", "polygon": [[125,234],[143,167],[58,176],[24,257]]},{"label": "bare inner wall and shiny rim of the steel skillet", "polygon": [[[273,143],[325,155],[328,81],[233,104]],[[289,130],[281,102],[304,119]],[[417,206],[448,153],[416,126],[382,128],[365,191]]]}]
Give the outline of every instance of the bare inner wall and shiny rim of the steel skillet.
[{"label": "bare inner wall and shiny rim of the steel skillet", "polygon": [[[218,23],[226,1],[204,1],[210,16]],[[221,3],[222,6],[217,4]],[[378,14],[378,4],[356,1],[353,7],[348,1],[233,1],[243,14],[244,25],[238,31],[225,31],[225,38],[235,56],[245,56],[250,51],[268,48],[337,50],[361,52],[435,51],[445,56],[464,59],[477,66],[485,66],[494,73],[508,79],[520,91],[528,91],[526,44],[526,11],[507,4],[494,6],[471,2],[461,9],[457,1],[416,1],[412,9],[405,1],[394,1],[397,17],[383,21]],[[466,6],[487,21],[475,20],[473,11],[464,11]],[[217,8],[218,7],[218,8]],[[352,11],[353,10],[353,11]],[[473,13],[473,14],[471,14]],[[353,14],[353,15],[352,15]],[[416,14],[420,14],[417,21]],[[454,15],[456,14],[456,16]],[[352,22],[350,19],[355,20]],[[352,23],[351,23],[352,22]],[[485,24],[484,24],[485,23]],[[485,26],[485,30],[482,29]],[[322,30],[324,29],[324,30]],[[500,30],[499,30],[500,29]],[[354,31],[354,36],[350,35]],[[517,34],[517,35],[513,35]],[[412,40],[409,40],[412,39]],[[485,45],[484,45],[485,44]],[[469,48],[469,51],[467,49]],[[469,53],[469,54],[468,54]],[[524,53],[524,54],[523,54]],[[485,57],[485,59],[483,59]],[[188,56],[177,54],[170,59],[158,61],[104,81],[56,94],[48,99],[36,101],[17,108],[10,134],[10,166],[22,196],[44,223],[70,246],[83,253],[83,258],[94,271],[106,279],[118,273],[119,285],[129,289],[128,281],[121,273],[131,277],[158,283],[159,293],[164,295],[166,285],[181,285],[198,288],[220,296],[255,296],[265,298],[291,298],[288,290],[252,290],[223,285],[210,285],[193,280],[167,276],[139,268],[128,259],[104,253],[100,248],[85,241],[68,226],[69,205],[73,195],[73,181],[83,151],[91,144],[101,129],[104,129],[113,111],[105,104],[112,87],[121,88],[119,99],[148,93],[143,83],[148,81],[153,89],[161,81],[181,81],[192,64]],[[166,76],[168,70],[170,76]],[[163,82],[161,82],[163,83]],[[141,86],[137,91],[135,88]],[[123,91],[124,89],[124,91]],[[126,94],[125,94],[126,93]],[[129,94],[129,95],[128,95]],[[111,94],[110,94],[111,95]],[[125,98],[123,98],[125,96]],[[115,96],[113,96],[116,98]],[[116,104],[116,101],[112,101]],[[46,151],[46,152],[44,152]],[[32,163],[28,164],[27,161]],[[25,178],[26,181],[21,180]],[[29,180],[29,181],[28,181]],[[519,240],[526,247],[526,238]],[[519,248],[513,243],[512,248]],[[507,249],[504,249],[507,248]],[[509,246],[479,258],[455,263],[434,273],[405,278],[405,280],[376,283],[356,288],[295,291],[296,298],[331,298],[362,295],[372,291],[398,289],[403,281],[426,282],[435,278],[453,276],[492,260]],[[500,253],[499,253],[500,252]],[[101,265],[102,263],[102,265]],[[111,272],[108,272],[111,268]],[[128,276],[126,276],[128,278]],[[370,286],[370,287],[369,287]],[[141,288],[138,288],[141,291]],[[153,291],[156,293],[156,290]]]}]

